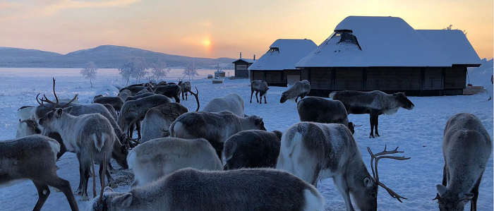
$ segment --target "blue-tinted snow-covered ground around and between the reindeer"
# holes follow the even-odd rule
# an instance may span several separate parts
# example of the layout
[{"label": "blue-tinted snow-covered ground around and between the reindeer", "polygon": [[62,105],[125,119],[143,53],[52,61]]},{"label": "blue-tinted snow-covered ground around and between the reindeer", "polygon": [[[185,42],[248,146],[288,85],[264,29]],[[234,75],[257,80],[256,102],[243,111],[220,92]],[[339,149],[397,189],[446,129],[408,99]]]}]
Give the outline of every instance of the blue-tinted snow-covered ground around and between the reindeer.
[{"label": "blue-tinted snow-covered ground around and between the reindeer", "polygon": [[[26,69],[0,68],[0,140],[14,138],[18,118],[16,110],[24,105],[37,105],[37,93],[52,96],[52,77],[56,78],[56,91],[61,98],[71,98],[78,93],[80,99],[92,99],[95,92],[104,85],[120,84],[121,77],[114,69],[100,69],[95,88],[90,88],[88,80],[79,75],[79,69]],[[204,106],[215,97],[229,92],[236,92],[243,97],[246,114],[263,117],[268,131],[285,131],[299,121],[294,102],[279,103],[281,93],[287,88],[272,87],[267,92],[267,104],[248,103],[251,94],[248,80],[224,80],[223,84],[212,84],[204,79],[212,70],[199,71],[200,76],[191,83],[199,90],[200,103]],[[231,71],[233,74],[233,71]],[[172,70],[167,80],[181,78],[181,70]],[[118,78],[118,79],[117,79]],[[118,80],[118,81],[117,81]],[[254,97],[255,98],[255,97]],[[380,188],[378,194],[379,210],[438,210],[432,199],[437,193],[435,185],[442,181],[443,159],[441,152],[442,132],[447,119],[459,112],[469,112],[478,116],[486,126],[491,138],[493,136],[493,101],[488,102],[487,93],[472,96],[447,97],[409,97],[415,108],[411,111],[399,109],[394,116],[380,117],[380,138],[370,139],[368,115],[350,115],[356,124],[354,135],[359,144],[363,160],[368,164],[370,156],[366,147],[373,152],[380,152],[387,145],[390,149],[399,146],[406,161],[382,160],[380,179],[388,187],[403,195],[408,200],[399,203]],[[255,102],[255,99],[253,100]],[[195,110],[195,100],[183,101],[189,110]],[[78,162],[71,153],[66,153],[57,163],[58,174],[71,182],[75,191],[78,186]],[[119,169],[119,168],[117,168]],[[368,169],[370,171],[370,169]],[[126,177],[117,174],[123,184]],[[127,179],[128,180],[128,179]],[[92,179],[90,179],[92,184]],[[121,185],[116,191],[128,191],[129,186]],[[332,183],[325,179],[318,185],[318,190],[325,196],[327,210],[345,210],[342,195]],[[88,193],[91,194],[90,188]],[[14,186],[0,188],[0,210],[32,210],[37,200],[35,186],[30,181]],[[76,195],[76,200],[80,196]],[[85,210],[87,203],[78,201],[80,210]],[[467,208],[469,209],[469,207]],[[42,210],[70,210],[63,193],[52,191]],[[493,210],[493,158],[490,157],[478,197],[478,210]]]}]

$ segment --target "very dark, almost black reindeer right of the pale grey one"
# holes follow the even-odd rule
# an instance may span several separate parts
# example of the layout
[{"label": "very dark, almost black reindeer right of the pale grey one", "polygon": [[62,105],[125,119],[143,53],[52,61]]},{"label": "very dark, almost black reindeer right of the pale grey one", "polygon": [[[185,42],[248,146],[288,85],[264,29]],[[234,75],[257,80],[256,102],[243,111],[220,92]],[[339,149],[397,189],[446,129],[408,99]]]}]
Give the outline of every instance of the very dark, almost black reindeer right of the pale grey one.
[{"label": "very dark, almost black reindeer right of the pale grey one", "polygon": [[241,131],[224,142],[224,169],[275,168],[279,155],[280,131]]}]

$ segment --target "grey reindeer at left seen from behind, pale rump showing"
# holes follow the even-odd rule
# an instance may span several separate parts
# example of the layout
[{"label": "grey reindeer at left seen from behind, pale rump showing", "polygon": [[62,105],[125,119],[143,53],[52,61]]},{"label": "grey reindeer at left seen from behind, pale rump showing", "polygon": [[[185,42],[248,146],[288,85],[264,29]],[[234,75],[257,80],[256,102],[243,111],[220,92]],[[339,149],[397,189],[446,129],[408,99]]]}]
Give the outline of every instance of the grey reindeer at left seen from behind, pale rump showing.
[{"label": "grey reindeer at left seen from behind, pale rump showing", "polygon": [[106,174],[109,185],[117,186],[108,169],[103,172],[103,167],[109,163],[114,142],[118,138],[112,124],[101,114],[72,116],[71,110],[72,107],[54,109],[38,122],[43,128],[59,133],[67,150],[76,152],[80,174],[76,195],[81,195],[81,200],[89,200],[88,179],[92,160],[100,164],[100,180],[104,181]]}]

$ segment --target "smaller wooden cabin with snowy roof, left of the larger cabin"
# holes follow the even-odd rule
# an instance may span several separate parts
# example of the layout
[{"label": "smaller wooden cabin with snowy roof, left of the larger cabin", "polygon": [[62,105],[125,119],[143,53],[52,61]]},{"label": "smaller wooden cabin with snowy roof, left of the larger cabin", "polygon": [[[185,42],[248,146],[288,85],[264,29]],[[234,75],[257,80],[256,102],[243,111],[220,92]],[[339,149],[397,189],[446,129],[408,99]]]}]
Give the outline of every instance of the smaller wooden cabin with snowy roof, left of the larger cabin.
[{"label": "smaller wooden cabin with snowy roof, left of the larger cabin", "polygon": [[297,61],[318,47],[312,40],[279,39],[248,68],[252,80],[265,80],[267,85],[286,87],[289,78],[300,78]]}]

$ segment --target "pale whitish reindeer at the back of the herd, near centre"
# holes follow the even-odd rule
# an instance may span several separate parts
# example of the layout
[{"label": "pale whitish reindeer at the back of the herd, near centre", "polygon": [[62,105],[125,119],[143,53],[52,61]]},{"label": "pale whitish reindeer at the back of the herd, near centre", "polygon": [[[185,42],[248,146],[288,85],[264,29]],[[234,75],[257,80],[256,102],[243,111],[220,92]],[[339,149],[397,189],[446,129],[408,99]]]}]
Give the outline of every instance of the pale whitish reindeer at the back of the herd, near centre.
[{"label": "pale whitish reindeer at the back of the herd, near centre", "polygon": [[243,114],[243,99],[236,93],[229,93],[223,97],[215,98],[208,102],[203,111],[219,112],[231,111],[236,116],[244,116]]}]

